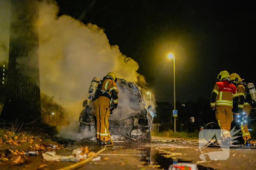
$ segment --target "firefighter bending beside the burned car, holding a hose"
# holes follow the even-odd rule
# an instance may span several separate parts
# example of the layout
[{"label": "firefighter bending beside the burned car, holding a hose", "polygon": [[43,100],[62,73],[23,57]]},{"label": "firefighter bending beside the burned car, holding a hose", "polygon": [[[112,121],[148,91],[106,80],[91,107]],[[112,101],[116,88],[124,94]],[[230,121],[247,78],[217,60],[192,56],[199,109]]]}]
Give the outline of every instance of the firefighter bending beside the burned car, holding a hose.
[{"label": "firefighter bending beside the burned car, holding a hose", "polygon": [[[101,88],[101,94],[99,98],[94,101],[94,108],[96,111],[97,119],[97,138],[100,145],[109,145],[109,137],[106,127],[109,128],[109,114],[106,113],[108,108],[111,106],[113,110],[117,108],[118,104],[118,90],[116,87],[116,74],[114,72],[109,72],[104,78]],[[107,120],[105,120],[105,115],[107,114]],[[106,124],[106,127],[105,127]]]}]

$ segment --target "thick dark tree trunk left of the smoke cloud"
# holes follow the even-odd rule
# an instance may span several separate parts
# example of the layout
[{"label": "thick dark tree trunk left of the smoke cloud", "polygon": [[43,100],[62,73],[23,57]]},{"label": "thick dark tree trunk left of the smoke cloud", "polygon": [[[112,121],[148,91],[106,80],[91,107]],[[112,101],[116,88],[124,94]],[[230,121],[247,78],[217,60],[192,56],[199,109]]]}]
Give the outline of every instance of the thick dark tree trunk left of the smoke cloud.
[{"label": "thick dark tree trunk left of the smoke cloud", "polygon": [[1,117],[29,123],[41,116],[36,0],[11,0],[7,94]]}]

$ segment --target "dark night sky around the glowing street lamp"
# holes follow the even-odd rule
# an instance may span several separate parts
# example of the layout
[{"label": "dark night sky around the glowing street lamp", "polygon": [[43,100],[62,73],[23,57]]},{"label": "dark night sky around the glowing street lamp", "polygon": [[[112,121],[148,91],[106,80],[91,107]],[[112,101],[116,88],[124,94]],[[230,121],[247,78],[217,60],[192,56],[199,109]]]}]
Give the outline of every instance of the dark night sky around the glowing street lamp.
[{"label": "dark night sky around the glowing street lamp", "polygon": [[[93,0],[57,0],[78,19]],[[105,29],[111,45],[139,64],[157,102],[210,99],[220,71],[256,83],[256,1],[97,0],[82,20]]]}]

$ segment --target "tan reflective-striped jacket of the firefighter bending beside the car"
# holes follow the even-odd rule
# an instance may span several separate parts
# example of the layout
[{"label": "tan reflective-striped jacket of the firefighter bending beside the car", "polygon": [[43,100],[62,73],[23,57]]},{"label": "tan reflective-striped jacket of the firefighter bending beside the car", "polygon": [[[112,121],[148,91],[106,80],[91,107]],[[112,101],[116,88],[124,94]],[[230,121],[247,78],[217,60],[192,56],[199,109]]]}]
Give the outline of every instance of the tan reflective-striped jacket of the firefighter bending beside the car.
[{"label": "tan reflective-striped jacket of the firefighter bending beside the car", "polygon": [[[117,91],[117,99],[113,99],[112,98],[112,91],[116,90]],[[118,90],[117,90],[117,86],[116,83],[111,80],[111,79],[106,79],[103,81],[102,83],[102,88],[101,91],[107,91],[106,93],[108,93],[110,95],[110,104],[114,103],[114,104],[118,104]]]}]

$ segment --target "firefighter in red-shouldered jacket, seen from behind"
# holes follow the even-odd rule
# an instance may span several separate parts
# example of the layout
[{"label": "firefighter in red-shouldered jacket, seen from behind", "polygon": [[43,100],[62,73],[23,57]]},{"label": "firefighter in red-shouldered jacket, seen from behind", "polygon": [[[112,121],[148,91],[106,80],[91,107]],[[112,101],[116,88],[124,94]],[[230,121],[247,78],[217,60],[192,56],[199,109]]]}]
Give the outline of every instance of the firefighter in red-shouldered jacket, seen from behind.
[{"label": "firefighter in red-shouldered jacket, seen from behind", "polygon": [[217,82],[212,90],[211,107],[215,110],[215,116],[221,127],[222,145],[229,146],[231,141],[230,126],[233,121],[233,99],[237,100],[236,86],[231,83],[229,73],[221,71],[217,77]]}]

